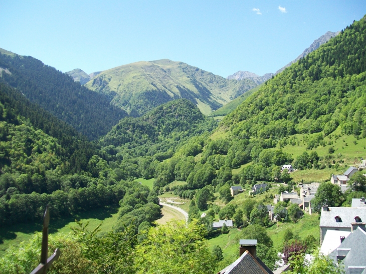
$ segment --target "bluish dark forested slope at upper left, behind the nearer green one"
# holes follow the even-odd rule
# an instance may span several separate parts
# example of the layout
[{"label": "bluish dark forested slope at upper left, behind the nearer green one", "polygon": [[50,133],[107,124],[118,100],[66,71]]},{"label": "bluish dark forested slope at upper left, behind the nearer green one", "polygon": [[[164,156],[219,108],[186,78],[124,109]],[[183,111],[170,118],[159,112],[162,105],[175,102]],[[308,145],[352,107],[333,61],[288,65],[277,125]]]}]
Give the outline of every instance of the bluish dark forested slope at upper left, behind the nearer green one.
[{"label": "bluish dark forested slope at upper left, behind the nearer green one", "polygon": [[4,69],[0,70],[0,82],[17,88],[31,102],[91,140],[105,135],[127,116],[125,111],[111,106],[105,96],[80,86],[69,75],[33,57],[0,54],[0,68]]}]

